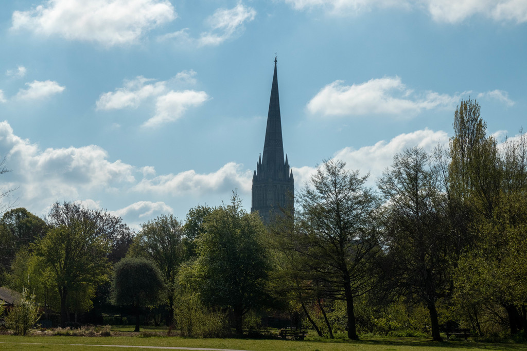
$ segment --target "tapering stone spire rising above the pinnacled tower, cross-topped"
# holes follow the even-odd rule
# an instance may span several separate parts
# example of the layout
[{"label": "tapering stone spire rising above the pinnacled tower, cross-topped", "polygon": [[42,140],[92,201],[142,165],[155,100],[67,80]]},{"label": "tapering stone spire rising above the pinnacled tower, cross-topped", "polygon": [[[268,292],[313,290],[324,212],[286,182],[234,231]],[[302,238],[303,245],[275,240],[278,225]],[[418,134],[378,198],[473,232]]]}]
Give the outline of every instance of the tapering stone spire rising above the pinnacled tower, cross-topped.
[{"label": "tapering stone spire rising above the pinnacled tower, cross-topped", "polygon": [[267,129],[265,133],[264,164],[269,174],[276,174],[279,165],[284,165],[284,144],[282,143],[282,124],[280,118],[280,99],[278,97],[278,75],[276,73],[277,59],[275,57],[275,73],[272,77],[271,98],[267,114]]}]

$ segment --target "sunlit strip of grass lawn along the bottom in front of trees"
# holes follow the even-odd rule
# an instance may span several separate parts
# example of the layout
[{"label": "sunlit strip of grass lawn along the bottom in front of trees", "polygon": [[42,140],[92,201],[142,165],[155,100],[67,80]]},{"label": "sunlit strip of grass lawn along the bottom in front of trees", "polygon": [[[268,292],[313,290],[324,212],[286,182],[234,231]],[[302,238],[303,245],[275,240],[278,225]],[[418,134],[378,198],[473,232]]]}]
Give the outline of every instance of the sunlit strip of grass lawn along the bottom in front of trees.
[{"label": "sunlit strip of grass lawn along the bottom in front of trees", "polygon": [[[113,328],[112,328],[113,329]],[[147,329],[147,328],[145,328]],[[132,328],[133,330],[133,328]],[[129,330],[123,330],[128,332]],[[24,344],[19,344],[24,343]],[[76,344],[76,345],[75,345]],[[427,338],[371,338],[350,342],[346,339],[338,339],[333,342],[329,340],[316,340],[309,338],[305,341],[296,340],[255,340],[255,339],[190,339],[181,337],[141,337],[141,336],[109,336],[109,337],[86,337],[86,336],[13,336],[0,335],[1,350],[123,350],[111,346],[81,346],[86,345],[133,345],[161,346],[161,347],[202,347],[223,348],[238,350],[354,350],[354,351],[418,351],[418,350],[527,350],[527,344],[494,344],[464,342],[462,340],[453,342],[437,343]]]}]

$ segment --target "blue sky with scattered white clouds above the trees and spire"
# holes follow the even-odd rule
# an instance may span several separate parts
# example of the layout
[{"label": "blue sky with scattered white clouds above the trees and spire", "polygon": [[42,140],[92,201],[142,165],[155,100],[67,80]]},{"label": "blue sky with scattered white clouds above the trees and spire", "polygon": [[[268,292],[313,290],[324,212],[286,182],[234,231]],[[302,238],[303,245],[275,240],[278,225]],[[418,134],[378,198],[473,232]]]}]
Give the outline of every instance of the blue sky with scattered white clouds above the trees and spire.
[{"label": "blue sky with scattered white clouds above the trees and spire", "polygon": [[460,99],[499,140],[525,127],[526,38],[526,0],[4,1],[0,181],[134,228],[233,189],[248,209],[276,52],[296,188],[331,157],[373,186],[447,144]]}]

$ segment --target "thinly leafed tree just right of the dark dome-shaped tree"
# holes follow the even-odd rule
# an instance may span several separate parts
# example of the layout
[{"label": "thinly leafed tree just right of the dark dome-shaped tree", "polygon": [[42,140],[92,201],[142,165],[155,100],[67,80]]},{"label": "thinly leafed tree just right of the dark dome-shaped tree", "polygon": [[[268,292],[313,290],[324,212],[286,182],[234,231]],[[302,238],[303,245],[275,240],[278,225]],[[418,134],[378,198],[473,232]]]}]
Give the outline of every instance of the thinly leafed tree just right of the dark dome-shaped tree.
[{"label": "thinly leafed tree just right of the dark dome-shaped tree", "polygon": [[142,225],[130,247],[130,256],[147,257],[160,269],[163,275],[169,314],[167,324],[172,324],[174,308],[175,279],[184,258],[181,223],[172,215],[161,215]]}]

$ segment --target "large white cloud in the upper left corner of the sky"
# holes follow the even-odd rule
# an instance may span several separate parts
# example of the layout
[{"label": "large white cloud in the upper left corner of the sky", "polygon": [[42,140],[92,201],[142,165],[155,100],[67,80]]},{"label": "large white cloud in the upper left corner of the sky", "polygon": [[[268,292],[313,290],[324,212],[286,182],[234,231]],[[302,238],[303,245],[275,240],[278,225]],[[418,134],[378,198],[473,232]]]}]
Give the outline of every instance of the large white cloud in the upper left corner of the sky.
[{"label": "large white cloud in the upper left corner of the sky", "polygon": [[48,0],[29,11],[15,11],[12,29],[113,46],[138,42],[176,16],[168,0]]}]

